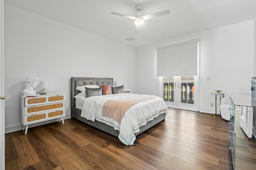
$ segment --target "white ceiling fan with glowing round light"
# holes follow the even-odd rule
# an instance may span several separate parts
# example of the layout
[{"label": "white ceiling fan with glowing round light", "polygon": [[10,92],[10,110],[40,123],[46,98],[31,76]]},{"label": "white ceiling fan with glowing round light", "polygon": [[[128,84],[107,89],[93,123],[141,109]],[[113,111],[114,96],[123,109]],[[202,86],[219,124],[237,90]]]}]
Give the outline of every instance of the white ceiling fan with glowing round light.
[{"label": "white ceiling fan with glowing round light", "polygon": [[164,11],[161,11],[161,12],[156,12],[156,13],[153,13],[153,14],[148,14],[148,15],[143,16],[142,11],[141,11],[142,8],[143,8],[142,5],[136,5],[135,8],[136,8],[137,12],[135,13],[134,17],[124,15],[124,14],[120,14],[120,13],[116,13],[116,12],[111,12],[110,14],[125,17],[125,18],[130,18],[130,19],[134,20],[134,23],[136,25],[136,33],[140,33],[140,25],[142,25],[145,20],[149,20],[151,18],[156,18],[156,17],[159,17],[159,16],[164,16],[164,15],[170,14],[170,10],[164,10]]}]

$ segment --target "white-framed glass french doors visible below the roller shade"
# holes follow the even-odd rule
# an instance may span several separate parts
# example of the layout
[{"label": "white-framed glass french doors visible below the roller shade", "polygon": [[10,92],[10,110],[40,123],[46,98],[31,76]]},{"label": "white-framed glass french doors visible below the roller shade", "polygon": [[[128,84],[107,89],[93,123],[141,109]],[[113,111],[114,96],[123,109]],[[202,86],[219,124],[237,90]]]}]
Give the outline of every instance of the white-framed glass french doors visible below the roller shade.
[{"label": "white-framed glass french doors visible below the roller shade", "polygon": [[197,111],[197,76],[163,77],[162,87],[160,96],[168,107]]}]

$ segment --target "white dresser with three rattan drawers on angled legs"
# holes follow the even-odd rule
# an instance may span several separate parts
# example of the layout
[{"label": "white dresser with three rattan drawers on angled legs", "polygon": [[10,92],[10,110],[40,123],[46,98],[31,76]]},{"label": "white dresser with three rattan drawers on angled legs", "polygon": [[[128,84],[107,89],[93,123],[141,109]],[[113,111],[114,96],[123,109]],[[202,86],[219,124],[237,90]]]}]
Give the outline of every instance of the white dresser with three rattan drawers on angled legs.
[{"label": "white dresser with three rattan drawers on angled legs", "polygon": [[34,96],[21,96],[21,122],[28,131],[28,125],[51,119],[62,120],[66,116],[65,93],[36,94]]}]

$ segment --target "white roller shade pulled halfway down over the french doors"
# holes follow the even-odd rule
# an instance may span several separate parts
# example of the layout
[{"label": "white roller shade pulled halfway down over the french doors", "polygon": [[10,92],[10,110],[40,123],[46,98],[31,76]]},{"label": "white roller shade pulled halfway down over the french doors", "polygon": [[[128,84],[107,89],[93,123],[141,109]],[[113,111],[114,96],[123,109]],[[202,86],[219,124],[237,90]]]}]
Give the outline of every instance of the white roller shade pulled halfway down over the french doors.
[{"label": "white roller shade pulled halfway down over the french doors", "polygon": [[193,39],[157,47],[157,76],[197,76],[198,42]]}]

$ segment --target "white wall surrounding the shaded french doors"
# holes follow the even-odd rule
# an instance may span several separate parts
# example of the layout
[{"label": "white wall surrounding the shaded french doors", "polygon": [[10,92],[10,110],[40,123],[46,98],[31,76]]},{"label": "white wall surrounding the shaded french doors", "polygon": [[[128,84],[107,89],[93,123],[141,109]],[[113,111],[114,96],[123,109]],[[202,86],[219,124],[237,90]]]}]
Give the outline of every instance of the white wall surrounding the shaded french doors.
[{"label": "white wall surrounding the shaded french doors", "polygon": [[[158,95],[156,47],[200,39],[200,111],[215,113],[214,90],[250,94],[254,75],[254,20],[184,35],[136,49],[136,92]],[[154,61],[154,62],[153,62]],[[149,75],[147,75],[149,74]],[[170,75],[171,76],[171,75]],[[210,81],[206,81],[210,77]]]}]

